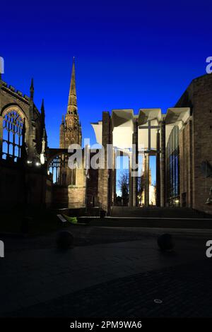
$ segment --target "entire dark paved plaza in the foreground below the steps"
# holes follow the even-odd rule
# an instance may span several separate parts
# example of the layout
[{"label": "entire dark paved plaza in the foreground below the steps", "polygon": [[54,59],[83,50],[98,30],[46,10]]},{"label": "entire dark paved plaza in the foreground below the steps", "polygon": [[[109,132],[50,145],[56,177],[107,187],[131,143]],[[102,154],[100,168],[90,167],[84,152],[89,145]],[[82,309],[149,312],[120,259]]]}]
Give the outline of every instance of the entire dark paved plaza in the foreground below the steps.
[{"label": "entire dark paved plaza in the foreground below the steps", "polygon": [[[4,237],[0,316],[212,316],[211,230],[69,230],[75,246],[67,251],[57,249],[56,233]],[[164,232],[175,251],[158,249]]]}]

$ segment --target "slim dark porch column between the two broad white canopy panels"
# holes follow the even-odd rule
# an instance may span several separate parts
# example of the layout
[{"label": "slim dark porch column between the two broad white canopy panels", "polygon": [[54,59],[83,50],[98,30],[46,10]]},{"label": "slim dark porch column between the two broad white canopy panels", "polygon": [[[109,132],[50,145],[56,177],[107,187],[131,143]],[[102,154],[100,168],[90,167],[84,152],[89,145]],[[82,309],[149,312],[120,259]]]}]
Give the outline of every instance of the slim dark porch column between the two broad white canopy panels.
[{"label": "slim dark porch column between the two broad white canopy panels", "polygon": [[[133,160],[136,164],[138,164],[139,160],[139,151],[138,151],[138,122],[135,120],[134,121],[134,134],[133,134],[133,143],[134,143],[134,148],[133,150]],[[134,172],[138,172],[138,167],[134,169]],[[138,177],[132,177],[132,186],[133,186],[133,206],[138,206]]]}]

